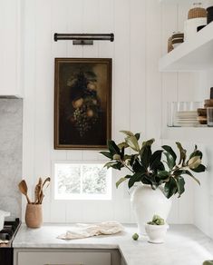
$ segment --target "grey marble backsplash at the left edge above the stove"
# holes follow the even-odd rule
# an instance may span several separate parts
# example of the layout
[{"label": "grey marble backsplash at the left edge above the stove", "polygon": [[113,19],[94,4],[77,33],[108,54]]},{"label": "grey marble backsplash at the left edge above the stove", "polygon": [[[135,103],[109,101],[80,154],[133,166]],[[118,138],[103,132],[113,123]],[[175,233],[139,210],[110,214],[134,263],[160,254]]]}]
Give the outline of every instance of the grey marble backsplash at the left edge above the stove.
[{"label": "grey marble backsplash at the left edge above the stove", "polygon": [[23,101],[0,99],[0,210],[21,217]]}]

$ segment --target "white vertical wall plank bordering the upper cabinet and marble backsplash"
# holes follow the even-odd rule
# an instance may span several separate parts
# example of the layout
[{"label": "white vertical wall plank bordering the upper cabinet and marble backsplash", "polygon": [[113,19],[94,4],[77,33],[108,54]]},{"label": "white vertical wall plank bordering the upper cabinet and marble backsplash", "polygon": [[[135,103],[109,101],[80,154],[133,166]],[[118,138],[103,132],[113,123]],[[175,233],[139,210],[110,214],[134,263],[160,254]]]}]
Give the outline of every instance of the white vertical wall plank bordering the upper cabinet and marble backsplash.
[{"label": "white vertical wall plank bordering the upper cabinet and marble backsplash", "polygon": [[[35,117],[35,2],[25,2],[24,14],[27,24],[24,25],[24,111],[23,111],[23,178],[30,187],[34,182],[34,117]],[[27,71],[29,70],[30,71]],[[31,195],[31,190],[29,191]],[[22,203],[23,220],[25,200]]]}]

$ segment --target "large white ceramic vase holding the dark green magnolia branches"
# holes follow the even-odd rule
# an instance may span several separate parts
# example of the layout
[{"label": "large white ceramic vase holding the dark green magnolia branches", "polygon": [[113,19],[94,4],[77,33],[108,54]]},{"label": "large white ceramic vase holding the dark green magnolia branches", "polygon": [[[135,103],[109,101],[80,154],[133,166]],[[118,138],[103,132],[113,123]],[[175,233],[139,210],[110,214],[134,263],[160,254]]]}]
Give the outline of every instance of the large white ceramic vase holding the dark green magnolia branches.
[{"label": "large white ceramic vase holding the dark green magnolia branches", "polygon": [[145,224],[158,214],[167,221],[171,208],[171,200],[167,199],[161,188],[152,190],[150,185],[135,187],[131,193],[131,206],[135,213],[140,235],[146,234]]}]

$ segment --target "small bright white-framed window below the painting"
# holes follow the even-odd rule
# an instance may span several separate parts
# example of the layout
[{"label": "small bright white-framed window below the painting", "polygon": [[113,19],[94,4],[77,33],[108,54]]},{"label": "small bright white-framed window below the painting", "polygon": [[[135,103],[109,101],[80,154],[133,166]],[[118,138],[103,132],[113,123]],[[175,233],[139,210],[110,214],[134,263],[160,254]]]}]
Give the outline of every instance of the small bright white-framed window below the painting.
[{"label": "small bright white-framed window below the painting", "polygon": [[55,200],[111,200],[111,170],[102,163],[54,163]]}]

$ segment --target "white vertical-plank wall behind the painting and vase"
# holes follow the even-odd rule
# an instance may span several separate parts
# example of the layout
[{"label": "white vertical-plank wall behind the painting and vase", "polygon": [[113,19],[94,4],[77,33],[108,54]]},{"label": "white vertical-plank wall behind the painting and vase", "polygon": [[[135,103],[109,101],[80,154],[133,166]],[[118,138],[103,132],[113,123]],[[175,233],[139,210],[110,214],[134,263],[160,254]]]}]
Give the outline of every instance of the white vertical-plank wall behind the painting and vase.
[{"label": "white vertical-plank wall behind the painting and vase", "polygon": [[[111,57],[112,138],[121,129],[155,137],[166,123],[168,100],[191,100],[191,74],[160,74],[158,61],[167,39],[181,29],[187,5],[160,5],[158,0],[25,0],[24,2],[24,178],[30,192],[38,176],[53,177],[54,161],[96,161],[95,151],[53,150],[54,57]],[[179,28],[180,27],[180,28]],[[53,33],[114,33],[115,42],[73,46],[53,42]],[[186,93],[187,89],[187,93]],[[168,142],[170,143],[170,142]],[[113,182],[121,176],[113,172]],[[174,200],[169,221],[193,222],[193,187]],[[53,186],[44,200],[44,221],[134,221],[130,195],[113,185],[112,201],[53,201]],[[23,217],[24,217],[23,201]]]}]

